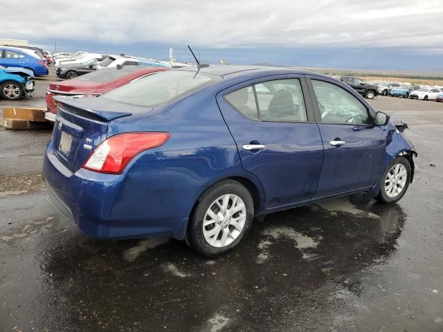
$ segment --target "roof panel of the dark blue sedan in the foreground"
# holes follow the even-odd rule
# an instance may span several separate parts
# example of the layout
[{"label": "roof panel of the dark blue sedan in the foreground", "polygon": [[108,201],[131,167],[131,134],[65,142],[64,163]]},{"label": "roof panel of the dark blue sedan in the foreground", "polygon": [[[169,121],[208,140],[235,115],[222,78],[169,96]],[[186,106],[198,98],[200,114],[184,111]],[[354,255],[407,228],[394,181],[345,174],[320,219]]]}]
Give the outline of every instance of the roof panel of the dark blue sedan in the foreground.
[{"label": "roof panel of the dark blue sedan in the foreground", "polygon": [[318,73],[311,73],[309,71],[301,71],[299,69],[288,68],[288,67],[237,66],[237,65],[231,65],[231,64],[210,65],[205,68],[200,68],[200,70],[197,68],[197,66],[181,67],[181,68],[175,68],[174,71],[199,71],[200,73],[207,73],[207,74],[211,74],[211,75],[217,75],[220,77],[226,77],[228,75],[249,74],[249,73],[254,73],[254,72],[256,72],[256,73],[268,72],[270,75],[272,75],[273,73],[275,73],[275,74],[293,73],[293,74],[314,74],[314,75],[325,76],[325,75],[318,74]]}]

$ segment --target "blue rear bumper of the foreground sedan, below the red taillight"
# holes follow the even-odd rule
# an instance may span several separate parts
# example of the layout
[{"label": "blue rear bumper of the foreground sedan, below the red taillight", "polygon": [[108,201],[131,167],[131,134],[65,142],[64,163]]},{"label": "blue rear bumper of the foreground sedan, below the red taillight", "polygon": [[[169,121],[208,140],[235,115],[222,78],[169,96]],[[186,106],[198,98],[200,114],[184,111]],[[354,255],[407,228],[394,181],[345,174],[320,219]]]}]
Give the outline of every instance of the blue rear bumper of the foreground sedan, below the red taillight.
[{"label": "blue rear bumper of the foreground sedan, below the red taillight", "polygon": [[125,174],[73,173],[57,159],[52,143],[43,174],[51,199],[82,232],[104,239],[172,236],[183,239],[200,188],[146,190]]}]

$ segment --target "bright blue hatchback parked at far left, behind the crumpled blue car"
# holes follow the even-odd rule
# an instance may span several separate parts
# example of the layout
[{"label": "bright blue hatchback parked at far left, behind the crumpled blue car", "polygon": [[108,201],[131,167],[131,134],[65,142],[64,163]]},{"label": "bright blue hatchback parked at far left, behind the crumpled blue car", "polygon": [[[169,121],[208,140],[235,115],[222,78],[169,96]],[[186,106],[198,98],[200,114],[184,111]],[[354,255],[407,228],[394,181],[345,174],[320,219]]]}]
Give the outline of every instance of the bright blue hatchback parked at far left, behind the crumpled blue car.
[{"label": "bright blue hatchback parked at far left, behind the crumpled blue car", "polygon": [[34,50],[0,46],[0,66],[19,67],[33,71],[35,76],[48,75],[44,59],[33,54]]}]

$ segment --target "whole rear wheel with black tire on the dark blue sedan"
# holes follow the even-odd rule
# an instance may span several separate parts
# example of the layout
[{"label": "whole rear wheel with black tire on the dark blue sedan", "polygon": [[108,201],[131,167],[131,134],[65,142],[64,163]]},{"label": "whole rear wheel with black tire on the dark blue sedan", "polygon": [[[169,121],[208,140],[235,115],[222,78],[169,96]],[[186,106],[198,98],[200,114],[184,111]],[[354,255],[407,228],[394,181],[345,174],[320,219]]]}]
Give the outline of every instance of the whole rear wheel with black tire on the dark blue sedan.
[{"label": "whole rear wheel with black tire on the dark blue sedan", "polygon": [[199,197],[188,225],[190,246],[204,257],[224,255],[246,238],[253,216],[253,199],[244,185],[216,183]]}]

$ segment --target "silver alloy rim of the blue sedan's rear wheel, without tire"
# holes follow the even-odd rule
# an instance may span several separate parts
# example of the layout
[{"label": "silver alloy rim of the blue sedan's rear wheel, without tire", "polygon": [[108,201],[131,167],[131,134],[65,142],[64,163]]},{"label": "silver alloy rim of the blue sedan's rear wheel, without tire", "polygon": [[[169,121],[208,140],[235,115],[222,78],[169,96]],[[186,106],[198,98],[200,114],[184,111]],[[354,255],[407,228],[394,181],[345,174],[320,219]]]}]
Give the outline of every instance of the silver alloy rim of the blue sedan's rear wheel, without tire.
[{"label": "silver alloy rim of the blue sedan's rear wheel, without tire", "polygon": [[233,243],[244,228],[246,205],[235,194],[225,194],[210,204],[203,220],[203,235],[211,246]]}]

